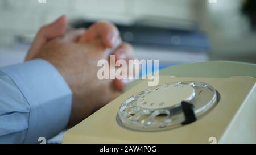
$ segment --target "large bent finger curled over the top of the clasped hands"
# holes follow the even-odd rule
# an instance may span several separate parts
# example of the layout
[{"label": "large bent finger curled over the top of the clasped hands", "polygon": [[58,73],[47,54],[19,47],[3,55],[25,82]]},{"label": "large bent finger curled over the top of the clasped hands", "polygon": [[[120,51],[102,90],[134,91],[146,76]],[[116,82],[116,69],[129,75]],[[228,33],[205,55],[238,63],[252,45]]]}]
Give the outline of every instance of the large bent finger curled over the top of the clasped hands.
[{"label": "large bent finger curled over the top of the clasped hands", "polygon": [[107,48],[112,48],[115,42],[120,39],[119,31],[112,23],[109,22],[97,22],[88,28],[85,35],[81,37],[80,41],[88,42],[100,37],[102,43]]}]

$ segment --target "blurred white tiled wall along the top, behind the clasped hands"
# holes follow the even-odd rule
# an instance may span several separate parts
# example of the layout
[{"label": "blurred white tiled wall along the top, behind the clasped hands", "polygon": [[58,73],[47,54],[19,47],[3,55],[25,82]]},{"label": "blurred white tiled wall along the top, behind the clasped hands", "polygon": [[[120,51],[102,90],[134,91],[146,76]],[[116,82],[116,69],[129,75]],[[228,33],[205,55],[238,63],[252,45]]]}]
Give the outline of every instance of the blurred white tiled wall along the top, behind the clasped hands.
[{"label": "blurred white tiled wall along the top, behind the clasped hands", "polygon": [[197,20],[196,1],[200,0],[0,0],[0,44],[13,43],[15,35],[35,33],[62,14],[120,22],[144,15]]}]

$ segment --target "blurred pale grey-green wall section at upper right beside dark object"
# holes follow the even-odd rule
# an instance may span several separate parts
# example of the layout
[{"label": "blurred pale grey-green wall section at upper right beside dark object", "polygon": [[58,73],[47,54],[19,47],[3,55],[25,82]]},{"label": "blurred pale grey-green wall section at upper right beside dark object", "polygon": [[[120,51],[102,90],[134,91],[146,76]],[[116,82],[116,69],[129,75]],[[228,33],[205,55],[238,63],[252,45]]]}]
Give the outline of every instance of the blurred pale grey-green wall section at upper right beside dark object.
[{"label": "blurred pale grey-green wall section at upper right beside dark object", "polygon": [[[203,1],[203,0],[202,0]],[[243,0],[204,1],[201,28],[208,33],[212,60],[256,63],[256,32],[250,31],[249,20],[241,13]]]}]

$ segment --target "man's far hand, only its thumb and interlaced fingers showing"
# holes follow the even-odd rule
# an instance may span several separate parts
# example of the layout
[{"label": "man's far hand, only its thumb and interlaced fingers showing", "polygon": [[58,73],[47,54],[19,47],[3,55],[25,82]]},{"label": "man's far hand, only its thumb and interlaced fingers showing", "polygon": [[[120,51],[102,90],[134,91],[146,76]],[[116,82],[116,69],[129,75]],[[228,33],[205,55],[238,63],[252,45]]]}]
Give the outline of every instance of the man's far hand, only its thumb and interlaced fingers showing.
[{"label": "man's far hand, only its thumb and interlaced fingers showing", "polygon": [[[34,59],[44,44],[48,43],[52,39],[64,36],[67,31],[67,27],[68,19],[65,15],[60,16],[60,18],[55,20],[55,22],[41,27],[36,34],[25,60],[28,61]],[[89,27],[86,33],[85,29],[80,29],[75,33],[77,33],[77,38],[73,41],[78,41],[79,43],[88,43],[89,41],[98,38],[102,40],[102,44],[105,48],[116,48],[114,46],[121,43],[118,29],[109,22],[97,22]],[[119,59],[126,61],[134,59],[133,48],[127,43],[121,43],[119,49],[113,52],[112,55],[115,55],[116,61]],[[127,80],[115,79],[114,81],[115,87],[121,91],[125,89],[127,83]]]}]

